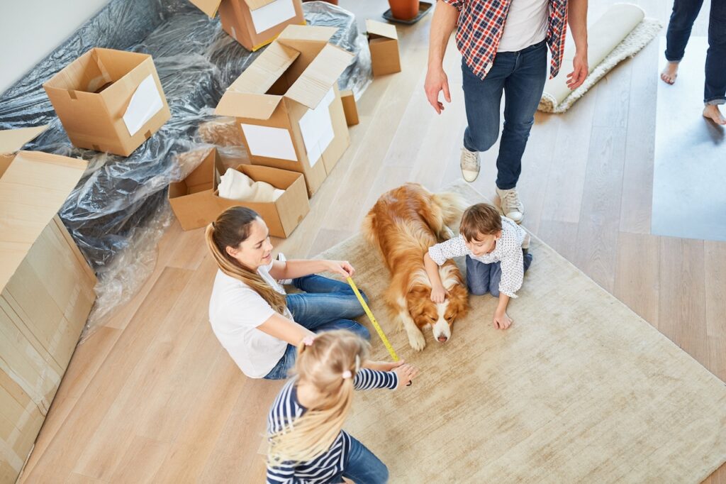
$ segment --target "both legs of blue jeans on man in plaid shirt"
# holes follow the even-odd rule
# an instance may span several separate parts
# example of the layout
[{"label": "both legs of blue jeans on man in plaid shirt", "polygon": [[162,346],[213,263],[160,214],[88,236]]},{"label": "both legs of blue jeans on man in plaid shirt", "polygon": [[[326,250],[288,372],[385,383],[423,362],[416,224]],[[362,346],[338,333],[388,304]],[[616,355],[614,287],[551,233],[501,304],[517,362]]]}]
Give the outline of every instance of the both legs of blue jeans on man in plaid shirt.
[{"label": "both legs of blue jeans on man in plaid shirt", "polygon": [[522,155],[534,124],[534,112],[547,80],[547,45],[544,41],[518,52],[499,52],[484,78],[478,78],[462,60],[464,103],[469,126],[464,148],[486,151],[499,137],[499,105],[505,93],[504,129],[497,157],[497,187],[517,185]]}]

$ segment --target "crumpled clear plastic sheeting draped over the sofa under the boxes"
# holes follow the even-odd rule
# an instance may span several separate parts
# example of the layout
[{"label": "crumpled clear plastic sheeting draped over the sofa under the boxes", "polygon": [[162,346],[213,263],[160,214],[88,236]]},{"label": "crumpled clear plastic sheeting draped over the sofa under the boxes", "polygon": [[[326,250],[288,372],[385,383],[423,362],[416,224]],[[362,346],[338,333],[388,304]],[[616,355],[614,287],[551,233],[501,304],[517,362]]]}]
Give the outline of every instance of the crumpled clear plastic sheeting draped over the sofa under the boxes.
[{"label": "crumpled clear plastic sheeting draped over the sofa under the boxes", "polygon": [[[354,15],[322,1],[303,4],[303,11],[309,25],[339,28],[333,43],[356,55],[340,89],[359,95],[372,76],[367,41]],[[70,145],[42,88],[92,47],[152,55],[166,94],[171,119],[128,158]],[[156,244],[171,220],[166,189],[196,167],[180,163],[179,154],[240,142],[229,120],[213,110],[260,52],[237,44],[221,30],[219,18],[209,19],[187,0],[112,0],[1,95],[0,129],[50,125],[26,149],[89,161],[59,214],[99,278],[92,321],[129,299],[152,272]],[[243,148],[232,150],[229,159],[245,161]]]}]

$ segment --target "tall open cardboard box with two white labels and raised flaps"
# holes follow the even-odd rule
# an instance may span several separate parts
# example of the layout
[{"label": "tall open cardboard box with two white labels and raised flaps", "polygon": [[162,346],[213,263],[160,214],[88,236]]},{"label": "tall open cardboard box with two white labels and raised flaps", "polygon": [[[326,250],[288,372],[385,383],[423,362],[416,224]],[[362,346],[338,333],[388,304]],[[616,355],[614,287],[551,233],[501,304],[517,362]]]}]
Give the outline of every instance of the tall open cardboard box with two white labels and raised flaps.
[{"label": "tall open cardboard box with two white labels and raised flaps", "polygon": [[353,55],[328,44],[336,30],[288,25],[215,111],[237,118],[252,164],[302,173],[309,195],[350,145],[338,77]]}]

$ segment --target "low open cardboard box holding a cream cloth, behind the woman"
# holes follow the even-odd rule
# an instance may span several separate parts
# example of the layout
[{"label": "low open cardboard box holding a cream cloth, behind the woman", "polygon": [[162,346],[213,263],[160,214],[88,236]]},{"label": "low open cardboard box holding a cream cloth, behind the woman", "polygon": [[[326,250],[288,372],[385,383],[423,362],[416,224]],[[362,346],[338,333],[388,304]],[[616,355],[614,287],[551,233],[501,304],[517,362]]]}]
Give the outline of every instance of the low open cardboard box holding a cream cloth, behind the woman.
[{"label": "low open cardboard box holding a cream cloth, behind the woman", "polygon": [[226,171],[216,148],[205,156],[189,176],[169,185],[168,199],[181,228],[192,230],[213,222],[231,206],[246,206],[262,217],[270,235],[285,238],[310,211],[303,176],[269,166],[240,165],[236,168],[256,182],[267,182],[285,190],[274,202],[229,200],[219,196],[219,177]]}]

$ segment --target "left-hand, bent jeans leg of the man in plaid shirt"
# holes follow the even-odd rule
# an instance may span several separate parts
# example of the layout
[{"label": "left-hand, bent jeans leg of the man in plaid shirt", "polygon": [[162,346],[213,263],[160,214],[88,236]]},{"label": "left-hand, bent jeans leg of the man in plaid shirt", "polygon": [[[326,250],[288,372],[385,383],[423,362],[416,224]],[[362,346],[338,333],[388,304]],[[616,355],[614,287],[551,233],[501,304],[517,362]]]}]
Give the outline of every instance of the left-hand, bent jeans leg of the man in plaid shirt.
[{"label": "left-hand, bent jeans leg of the man in plaid shirt", "polygon": [[464,131],[464,148],[469,151],[486,151],[497,142],[504,80],[513,65],[510,57],[510,52],[497,55],[484,80],[478,78],[462,60],[464,105],[468,122]]}]

